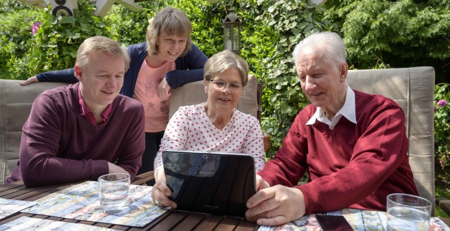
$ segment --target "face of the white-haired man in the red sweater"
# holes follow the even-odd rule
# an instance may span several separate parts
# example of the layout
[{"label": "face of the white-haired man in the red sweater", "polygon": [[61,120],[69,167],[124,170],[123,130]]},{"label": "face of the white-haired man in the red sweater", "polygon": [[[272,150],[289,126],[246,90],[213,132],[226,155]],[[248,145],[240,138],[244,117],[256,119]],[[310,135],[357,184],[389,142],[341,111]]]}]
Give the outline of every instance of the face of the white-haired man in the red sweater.
[{"label": "face of the white-haired man in the red sweater", "polygon": [[324,59],[324,49],[305,49],[296,60],[296,71],[306,97],[320,107],[327,117],[334,117],[344,106],[346,97],[346,64],[337,69],[334,63]]}]

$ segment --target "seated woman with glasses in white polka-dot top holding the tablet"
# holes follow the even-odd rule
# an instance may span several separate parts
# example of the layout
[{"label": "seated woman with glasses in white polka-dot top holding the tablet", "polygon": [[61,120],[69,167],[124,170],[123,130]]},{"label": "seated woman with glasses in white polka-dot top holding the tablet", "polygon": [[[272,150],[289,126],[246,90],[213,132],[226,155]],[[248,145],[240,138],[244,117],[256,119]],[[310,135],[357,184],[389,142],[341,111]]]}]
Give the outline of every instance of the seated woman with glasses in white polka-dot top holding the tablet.
[{"label": "seated woman with glasses in white polka-dot top holding the tablet", "polygon": [[171,190],[165,184],[161,155],[165,150],[250,154],[257,171],[265,163],[258,119],[235,109],[248,82],[247,62],[231,51],[222,51],[206,62],[203,76],[208,99],[203,104],[180,107],[161,141],[154,162],[156,184],[152,190],[158,205],[176,208],[176,203],[167,198]]}]

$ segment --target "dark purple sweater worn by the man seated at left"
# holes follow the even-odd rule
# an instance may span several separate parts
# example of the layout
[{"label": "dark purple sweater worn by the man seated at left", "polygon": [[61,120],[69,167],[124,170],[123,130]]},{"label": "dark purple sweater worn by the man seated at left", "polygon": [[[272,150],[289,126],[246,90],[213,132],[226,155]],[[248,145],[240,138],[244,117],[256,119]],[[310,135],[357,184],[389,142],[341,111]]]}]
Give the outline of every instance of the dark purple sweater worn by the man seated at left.
[{"label": "dark purple sweater worn by the man seated at left", "polygon": [[108,162],[134,179],[145,148],[142,105],[118,95],[106,123],[96,127],[81,115],[78,86],[61,86],[36,97],[23,125],[18,167],[7,182],[40,186],[97,180],[108,173]]}]

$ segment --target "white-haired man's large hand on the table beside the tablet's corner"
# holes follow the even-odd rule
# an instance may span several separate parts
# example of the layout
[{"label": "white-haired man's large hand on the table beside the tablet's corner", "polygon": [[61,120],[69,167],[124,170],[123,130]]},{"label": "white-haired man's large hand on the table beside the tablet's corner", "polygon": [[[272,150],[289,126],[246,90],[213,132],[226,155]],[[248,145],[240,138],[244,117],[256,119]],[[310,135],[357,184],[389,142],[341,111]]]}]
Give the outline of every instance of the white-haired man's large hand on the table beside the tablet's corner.
[{"label": "white-haired man's large hand on the table beside the tablet's corner", "polygon": [[280,226],[305,215],[305,198],[299,189],[275,185],[261,189],[247,202],[248,221],[259,226]]}]

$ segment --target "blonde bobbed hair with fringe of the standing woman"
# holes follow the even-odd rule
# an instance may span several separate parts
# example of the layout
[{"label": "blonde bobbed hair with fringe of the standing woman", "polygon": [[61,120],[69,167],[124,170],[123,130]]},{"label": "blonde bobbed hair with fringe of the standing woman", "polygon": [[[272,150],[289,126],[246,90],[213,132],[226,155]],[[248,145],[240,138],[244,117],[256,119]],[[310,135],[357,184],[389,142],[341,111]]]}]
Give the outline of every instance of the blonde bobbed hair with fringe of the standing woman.
[{"label": "blonde bobbed hair with fringe of the standing woman", "polygon": [[157,41],[161,31],[169,36],[187,37],[185,50],[180,56],[185,56],[191,50],[192,25],[189,18],[181,10],[171,7],[163,8],[154,16],[153,20],[150,20],[145,37],[147,39],[147,52],[153,56],[159,53]]}]

